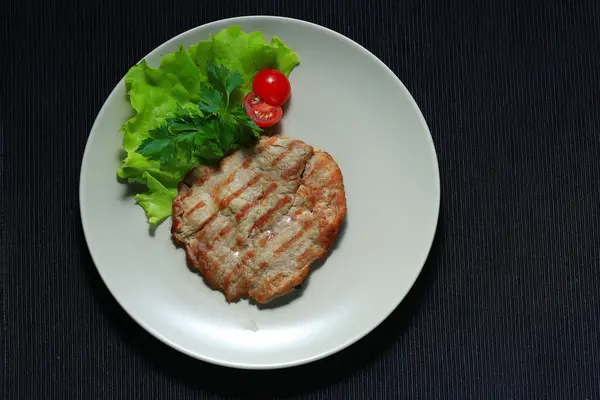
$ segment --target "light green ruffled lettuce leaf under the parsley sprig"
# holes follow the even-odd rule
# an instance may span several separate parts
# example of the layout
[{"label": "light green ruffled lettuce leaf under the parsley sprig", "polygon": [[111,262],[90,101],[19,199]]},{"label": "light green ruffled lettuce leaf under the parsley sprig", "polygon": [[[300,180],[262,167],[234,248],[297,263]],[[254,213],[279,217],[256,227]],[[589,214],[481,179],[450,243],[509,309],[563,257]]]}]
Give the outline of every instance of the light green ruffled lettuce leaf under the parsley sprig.
[{"label": "light green ruffled lettuce leaf under the parsley sprig", "polygon": [[177,184],[198,160],[189,163],[178,160],[165,166],[135,150],[149,136],[148,132],[164,124],[178,107],[190,111],[198,109],[200,87],[208,81],[209,61],[239,73],[243,82],[241,90],[232,95],[232,101],[242,107],[243,96],[251,90],[256,73],[265,68],[276,68],[289,76],[299,58],[277,37],[268,43],[260,32],[245,33],[234,26],[187,50],[179,47],[166,55],[158,68],[151,67],[145,60],[130,68],[125,75],[125,85],[136,114],[121,127],[122,146],[127,156],[117,175],[148,188],[135,200],[153,225],[171,214]]}]

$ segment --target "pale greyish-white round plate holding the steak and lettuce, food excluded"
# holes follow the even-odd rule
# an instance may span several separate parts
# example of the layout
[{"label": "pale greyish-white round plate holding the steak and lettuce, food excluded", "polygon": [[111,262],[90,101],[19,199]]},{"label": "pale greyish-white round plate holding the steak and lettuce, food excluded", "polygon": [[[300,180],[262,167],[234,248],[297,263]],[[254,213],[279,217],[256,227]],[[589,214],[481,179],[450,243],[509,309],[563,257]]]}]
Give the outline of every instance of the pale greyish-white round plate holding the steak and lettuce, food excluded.
[{"label": "pale greyish-white round plate holding the steak and lettuce, food excluded", "polygon": [[[435,149],[409,92],[374,55],[307,22],[242,17],[187,31],[145,58],[157,66],[231,25],[279,36],[300,56],[290,75],[285,135],[333,155],[346,185],[348,215],[336,248],[301,295],[259,309],[227,304],[155,236],[141,207],[117,182],[121,124],[133,115],[123,80],[100,110],[85,149],[81,217],[92,258],[123,308],[148,332],[201,360],[238,368],[281,368],[337,352],[381,323],[419,275],[436,229],[440,189]],[[410,62],[407,60],[406,62]]]}]

